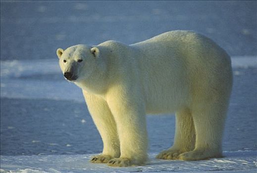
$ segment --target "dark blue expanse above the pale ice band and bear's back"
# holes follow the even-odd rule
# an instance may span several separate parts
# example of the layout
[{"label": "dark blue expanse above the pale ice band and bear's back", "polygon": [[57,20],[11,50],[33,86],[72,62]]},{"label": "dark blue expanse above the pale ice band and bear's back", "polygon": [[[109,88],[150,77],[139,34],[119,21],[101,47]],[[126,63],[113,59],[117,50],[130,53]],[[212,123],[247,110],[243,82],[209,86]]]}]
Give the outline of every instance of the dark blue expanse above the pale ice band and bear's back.
[{"label": "dark blue expanse above the pale ice band and bear's back", "polygon": [[55,58],[58,47],[131,44],[193,30],[231,56],[257,55],[257,1],[1,1],[0,57]]}]

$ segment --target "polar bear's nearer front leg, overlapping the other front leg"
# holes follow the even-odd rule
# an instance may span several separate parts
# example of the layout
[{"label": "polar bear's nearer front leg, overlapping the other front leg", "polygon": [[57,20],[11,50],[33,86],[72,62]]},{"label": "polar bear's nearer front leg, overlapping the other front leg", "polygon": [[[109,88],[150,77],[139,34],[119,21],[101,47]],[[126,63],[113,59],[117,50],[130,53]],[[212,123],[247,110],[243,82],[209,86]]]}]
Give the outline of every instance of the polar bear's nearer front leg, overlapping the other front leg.
[{"label": "polar bear's nearer front leg, overlapping the other front leg", "polygon": [[115,91],[107,97],[107,103],[118,130],[120,157],[111,159],[108,166],[142,165],[147,160],[148,149],[144,102],[139,94],[126,94],[124,89],[117,88]]}]

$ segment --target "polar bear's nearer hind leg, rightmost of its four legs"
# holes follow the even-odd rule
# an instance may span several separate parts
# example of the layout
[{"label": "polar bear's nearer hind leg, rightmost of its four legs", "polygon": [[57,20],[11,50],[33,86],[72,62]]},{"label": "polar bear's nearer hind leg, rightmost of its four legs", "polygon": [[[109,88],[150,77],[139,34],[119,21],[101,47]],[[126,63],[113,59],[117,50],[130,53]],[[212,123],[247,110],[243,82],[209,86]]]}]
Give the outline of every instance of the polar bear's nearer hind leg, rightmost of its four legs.
[{"label": "polar bear's nearer hind leg, rightmost of its four legs", "polygon": [[192,111],[196,129],[196,147],[179,155],[180,160],[203,160],[222,157],[222,133],[227,104],[224,101],[198,105]]}]

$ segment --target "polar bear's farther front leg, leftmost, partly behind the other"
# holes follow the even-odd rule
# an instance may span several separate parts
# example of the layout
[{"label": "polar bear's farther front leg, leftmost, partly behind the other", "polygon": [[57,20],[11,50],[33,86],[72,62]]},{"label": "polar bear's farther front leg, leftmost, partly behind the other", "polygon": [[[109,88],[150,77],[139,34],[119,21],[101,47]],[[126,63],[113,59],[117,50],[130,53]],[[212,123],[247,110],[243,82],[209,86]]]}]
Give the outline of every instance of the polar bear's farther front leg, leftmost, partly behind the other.
[{"label": "polar bear's farther front leg, leftmost, partly behind the other", "polygon": [[103,98],[83,90],[89,112],[103,140],[103,153],[93,156],[91,163],[108,163],[120,156],[119,139],[114,118]]}]

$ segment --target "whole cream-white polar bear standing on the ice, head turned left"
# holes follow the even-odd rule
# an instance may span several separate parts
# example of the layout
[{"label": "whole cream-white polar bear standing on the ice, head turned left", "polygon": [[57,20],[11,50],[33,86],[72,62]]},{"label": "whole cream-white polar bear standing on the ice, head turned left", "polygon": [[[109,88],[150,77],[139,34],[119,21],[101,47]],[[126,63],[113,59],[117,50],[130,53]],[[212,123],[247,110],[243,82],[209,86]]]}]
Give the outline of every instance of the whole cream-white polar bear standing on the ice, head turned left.
[{"label": "whole cream-white polar bear standing on the ice, head turned left", "polygon": [[131,45],[106,41],[56,53],[64,77],[82,89],[103,140],[92,163],[144,164],[146,114],[173,112],[174,144],[156,158],[221,156],[232,70],[229,55],[210,39],[171,31]]}]

